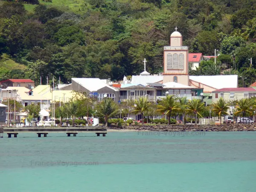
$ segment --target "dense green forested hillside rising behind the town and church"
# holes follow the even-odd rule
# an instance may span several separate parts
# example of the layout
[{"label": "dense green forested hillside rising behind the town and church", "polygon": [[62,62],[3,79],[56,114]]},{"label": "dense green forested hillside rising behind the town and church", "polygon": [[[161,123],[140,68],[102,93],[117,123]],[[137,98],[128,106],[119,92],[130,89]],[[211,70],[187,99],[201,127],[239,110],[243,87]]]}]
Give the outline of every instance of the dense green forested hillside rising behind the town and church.
[{"label": "dense green forested hillside rising behind the town and church", "polygon": [[[0,80],[42,76],[122,79],[162,71],[177,26],[189,52],[213,55],[192,75],[256,80],[254,0],[0,0]],[[252,58],[252,65],[250,65]],[[12,67],[11,67],[12,66]]]}]

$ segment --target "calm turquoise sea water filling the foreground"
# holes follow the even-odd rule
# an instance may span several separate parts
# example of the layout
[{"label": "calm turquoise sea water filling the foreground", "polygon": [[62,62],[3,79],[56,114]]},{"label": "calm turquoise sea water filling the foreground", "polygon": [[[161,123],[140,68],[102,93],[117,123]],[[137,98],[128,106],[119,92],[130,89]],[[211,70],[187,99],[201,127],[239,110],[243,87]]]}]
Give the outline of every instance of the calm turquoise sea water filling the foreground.
[{"label": "calm turquoise sea water filling the foreground", "polygon": [[0,192],[256,192],[256,132],[6,136]]}]

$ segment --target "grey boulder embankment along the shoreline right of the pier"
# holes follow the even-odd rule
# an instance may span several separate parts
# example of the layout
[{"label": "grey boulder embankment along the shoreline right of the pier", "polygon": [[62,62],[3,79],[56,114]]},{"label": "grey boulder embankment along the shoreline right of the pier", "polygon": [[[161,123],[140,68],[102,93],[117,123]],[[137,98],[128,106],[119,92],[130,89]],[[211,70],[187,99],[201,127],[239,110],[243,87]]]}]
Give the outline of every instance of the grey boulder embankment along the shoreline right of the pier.
[{"label": "grey boulder embankment along the shoreline right of the pier", "polygon": [[129,125],[115,126],[108,129],[136,131],[256,131],[256,124],[222,124],[222,125]]}]

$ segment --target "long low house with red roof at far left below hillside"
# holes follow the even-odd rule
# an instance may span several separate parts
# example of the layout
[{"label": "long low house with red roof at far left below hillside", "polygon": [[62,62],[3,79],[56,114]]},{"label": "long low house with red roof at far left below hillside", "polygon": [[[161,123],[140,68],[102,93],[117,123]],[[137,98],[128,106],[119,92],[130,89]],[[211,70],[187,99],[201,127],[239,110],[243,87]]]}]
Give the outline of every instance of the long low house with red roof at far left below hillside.
[{"label": "long low house with red roof at far left below hillside", "polygon": [[31,89],[31,87],[35,87],[35,82],[31,79],[7,79],[0,81],[0,86],[2,89],[6,89],[6,87],[26,87]]}]

